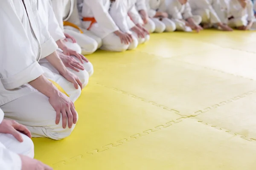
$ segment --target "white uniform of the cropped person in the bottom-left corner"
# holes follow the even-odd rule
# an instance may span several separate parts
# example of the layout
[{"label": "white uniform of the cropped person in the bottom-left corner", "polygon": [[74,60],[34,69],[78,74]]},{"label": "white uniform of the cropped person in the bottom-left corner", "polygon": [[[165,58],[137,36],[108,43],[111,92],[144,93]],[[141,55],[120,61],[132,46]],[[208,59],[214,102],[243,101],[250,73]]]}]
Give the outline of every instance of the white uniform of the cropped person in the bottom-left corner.
[{"label": "white uniform of the cropped person in the bottom-left corner", "polygon": [[[0,109],[0,124],[3,121],[3,111]],[[20,133],[23,142],[17,141],[10,134],[0,133],[0,169],[1,170],[21,170],[21,155],[34,158],[34,144],[28,136]]]}]

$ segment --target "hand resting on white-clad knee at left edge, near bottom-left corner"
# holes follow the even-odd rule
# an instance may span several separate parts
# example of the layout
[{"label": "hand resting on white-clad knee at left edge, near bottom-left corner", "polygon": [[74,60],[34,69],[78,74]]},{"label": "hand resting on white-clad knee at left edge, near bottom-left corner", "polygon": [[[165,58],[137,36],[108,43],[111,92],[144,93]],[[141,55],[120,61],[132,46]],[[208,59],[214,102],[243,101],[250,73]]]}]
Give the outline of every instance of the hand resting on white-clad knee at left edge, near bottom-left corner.
[{"label": "hand resting on white-clad knee at left edge, near bottom-left corner", "polygon": [[3,119],[0,124],[0,133],[11,134],[14,136],[19,142],[23,142],[23,138],[20,133],[25,134],[29,138],[31,138],[30,131],[26,128],[26,126],[17,123],[14,120]]}]

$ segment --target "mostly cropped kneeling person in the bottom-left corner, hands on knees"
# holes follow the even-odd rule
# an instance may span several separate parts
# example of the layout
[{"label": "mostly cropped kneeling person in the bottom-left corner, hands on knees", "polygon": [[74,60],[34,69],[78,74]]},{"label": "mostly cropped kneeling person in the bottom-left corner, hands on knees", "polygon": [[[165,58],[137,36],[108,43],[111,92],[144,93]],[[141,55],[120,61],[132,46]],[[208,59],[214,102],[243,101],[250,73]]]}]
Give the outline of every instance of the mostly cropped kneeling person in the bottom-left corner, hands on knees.
[{"label": "mostly cropped kneeling person in the bottom-left corner, hands on knees", "polygon": [[0,109],[0,167],[1,170],[52,170],[34,158],[31,133],[19,123],[3,118]]}]

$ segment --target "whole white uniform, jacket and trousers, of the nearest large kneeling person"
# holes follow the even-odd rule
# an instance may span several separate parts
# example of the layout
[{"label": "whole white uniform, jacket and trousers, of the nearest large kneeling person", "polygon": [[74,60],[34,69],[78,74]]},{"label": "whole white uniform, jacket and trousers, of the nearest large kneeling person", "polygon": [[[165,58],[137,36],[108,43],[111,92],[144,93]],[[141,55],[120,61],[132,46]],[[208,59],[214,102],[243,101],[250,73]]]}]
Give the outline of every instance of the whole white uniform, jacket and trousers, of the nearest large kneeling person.
[{"label": "whole white uniform, jacket and trousers, of the nearest large kneeling person", "polygon": [[[65,91],[65,85],[71,89],[73,84],[39,65],[38,61],[58,46],[43,25],[35,1],[23,2],[26,8],[21,0],[4,0],[0,6],[0,108],[6,118],[26,125],[34,137],[63,139],[75,125],[63,129],[62,119],[56,125],[56,112],[49,98],[28,82],[44,74]],[[66,92],[75,100],[81,89],[73,89],[73,94]]]}]

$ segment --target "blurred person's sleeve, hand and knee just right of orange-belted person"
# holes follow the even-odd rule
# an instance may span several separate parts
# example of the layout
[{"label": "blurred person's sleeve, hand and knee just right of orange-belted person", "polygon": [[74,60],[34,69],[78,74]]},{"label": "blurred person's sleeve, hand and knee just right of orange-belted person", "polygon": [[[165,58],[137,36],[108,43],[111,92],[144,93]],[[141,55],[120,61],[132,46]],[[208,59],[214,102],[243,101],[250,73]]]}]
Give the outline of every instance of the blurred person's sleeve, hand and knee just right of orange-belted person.
[{"label": "blurred person's sleeve, hand and knee just right of orange-belted person", "polygon": [[144,24],[145,28],[148,30],[149,33],[154,32],[156,26],[155,26],[154,22],[148,17],[146,0],[137,0],[135,6],[136,6],[137,11],[140,14],[140,17],[143,20],[143,24]]}]

